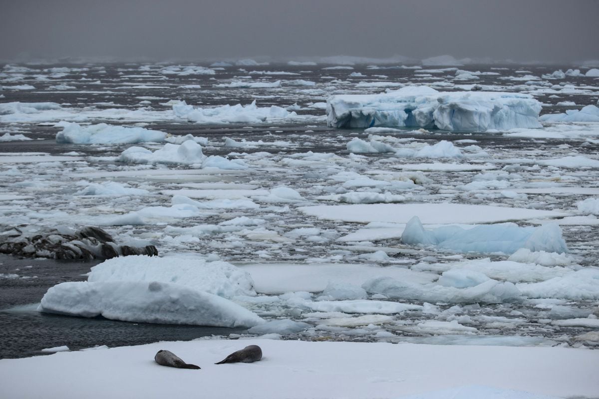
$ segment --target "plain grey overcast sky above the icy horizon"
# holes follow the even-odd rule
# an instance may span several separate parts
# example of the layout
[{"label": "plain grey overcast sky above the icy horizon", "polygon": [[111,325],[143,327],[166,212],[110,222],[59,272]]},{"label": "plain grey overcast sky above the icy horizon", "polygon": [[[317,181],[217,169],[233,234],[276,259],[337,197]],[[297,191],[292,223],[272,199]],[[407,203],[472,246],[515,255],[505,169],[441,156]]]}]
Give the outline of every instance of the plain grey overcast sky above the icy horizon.
[{"label": "plain grey overcast sky above the icy horizon", "polygon": [[599,59],[599,0],[0,0],[0,59]]}]

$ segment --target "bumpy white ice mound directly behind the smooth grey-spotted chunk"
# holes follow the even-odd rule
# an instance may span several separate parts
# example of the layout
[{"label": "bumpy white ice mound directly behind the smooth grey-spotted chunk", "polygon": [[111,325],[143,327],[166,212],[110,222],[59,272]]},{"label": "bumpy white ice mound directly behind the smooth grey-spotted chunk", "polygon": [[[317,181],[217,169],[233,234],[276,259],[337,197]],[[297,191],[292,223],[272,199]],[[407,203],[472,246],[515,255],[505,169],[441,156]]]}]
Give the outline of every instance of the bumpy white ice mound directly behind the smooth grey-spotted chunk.
[{"label": "bumpy white ice mound directly behind the smooth grey-spotted chunk", "polygon": [[93,266],[87,281],[159,281],[225,298],[256,295],[252,277],[246,271],[230,263],[207,262],[198,257],[132,255],[112,258]]}]

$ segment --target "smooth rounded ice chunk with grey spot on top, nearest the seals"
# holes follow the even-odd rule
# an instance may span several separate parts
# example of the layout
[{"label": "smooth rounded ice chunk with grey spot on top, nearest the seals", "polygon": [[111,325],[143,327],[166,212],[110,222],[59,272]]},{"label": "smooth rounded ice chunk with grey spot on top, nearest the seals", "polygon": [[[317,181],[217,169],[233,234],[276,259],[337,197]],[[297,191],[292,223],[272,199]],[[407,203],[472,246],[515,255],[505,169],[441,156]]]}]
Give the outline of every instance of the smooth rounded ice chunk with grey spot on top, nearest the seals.
[{"label": "smooth rounded ice chunk with grey spot on top, nearest the seals", "polygon": [[228,299],[156,281],[63,282],[47,291],[38,310],[122,321],[217,327],[252,327],[262,322],[258,315]]}]

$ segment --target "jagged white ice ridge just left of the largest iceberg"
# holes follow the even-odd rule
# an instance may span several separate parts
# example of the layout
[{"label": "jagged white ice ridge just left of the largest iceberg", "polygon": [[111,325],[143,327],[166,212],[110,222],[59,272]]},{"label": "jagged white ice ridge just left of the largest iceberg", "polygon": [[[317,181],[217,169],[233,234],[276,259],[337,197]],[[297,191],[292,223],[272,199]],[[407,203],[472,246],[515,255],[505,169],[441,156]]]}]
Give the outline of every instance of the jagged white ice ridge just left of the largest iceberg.
[{"label": "jagged white ice ridge just left of the largest iceberg", "polygon": [[214,108],[193,108],[181,101],[173,105],[176,117],[195,123],[264,123],[270,120],[295,118],[295,112],[289,112],[280,106],[259,107],[254,100],[248,105],[222,105]]}]

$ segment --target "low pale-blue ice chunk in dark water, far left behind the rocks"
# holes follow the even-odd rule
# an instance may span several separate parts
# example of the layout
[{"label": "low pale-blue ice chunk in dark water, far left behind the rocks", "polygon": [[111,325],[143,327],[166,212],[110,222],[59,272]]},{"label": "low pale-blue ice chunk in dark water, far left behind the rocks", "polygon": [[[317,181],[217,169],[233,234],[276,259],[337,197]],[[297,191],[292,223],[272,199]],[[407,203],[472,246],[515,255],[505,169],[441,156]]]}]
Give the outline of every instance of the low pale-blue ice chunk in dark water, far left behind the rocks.
[{"label": "low pale-blue ice chunk in dark water, far left behind the rocks", "polygon": [[81,126],[74,122],[60,122],[62,131],[56,133],[60,144],[134,144],[140,142],[163,142],[167,133],[143,127],[113,126],[105,123]]}]

